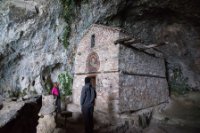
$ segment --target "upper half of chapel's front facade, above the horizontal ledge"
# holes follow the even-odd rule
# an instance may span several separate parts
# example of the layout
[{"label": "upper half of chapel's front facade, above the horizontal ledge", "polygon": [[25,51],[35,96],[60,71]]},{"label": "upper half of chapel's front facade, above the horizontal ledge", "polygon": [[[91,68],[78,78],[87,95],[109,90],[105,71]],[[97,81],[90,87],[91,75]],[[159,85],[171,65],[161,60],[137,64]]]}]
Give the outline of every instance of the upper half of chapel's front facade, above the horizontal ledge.
[{"label": "upper half of chapel's front facade, above the horizontal ledge", "polygon": [[[91,35],[95,34],[95,46],[91,48]],[[75,73],[86,73],[86,60],[91,52],[96,52],[100,59],[98,72],[118,70],[118,47],[114,41],[119,37],[119,30],[92,25],[80,41],[75,58]]]}]

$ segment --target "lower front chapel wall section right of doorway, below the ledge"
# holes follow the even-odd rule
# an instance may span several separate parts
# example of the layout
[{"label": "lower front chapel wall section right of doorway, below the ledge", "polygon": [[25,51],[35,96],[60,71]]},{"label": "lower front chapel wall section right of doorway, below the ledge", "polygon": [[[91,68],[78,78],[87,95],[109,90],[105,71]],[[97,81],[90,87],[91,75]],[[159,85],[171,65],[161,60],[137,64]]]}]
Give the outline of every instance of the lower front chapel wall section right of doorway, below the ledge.
[{"label": "lower front chapel wall section right of doorway, below the ledge", "polygon": [[95,110],[109,112],[118,111],[119,73],[101,73],[97,75]]}]

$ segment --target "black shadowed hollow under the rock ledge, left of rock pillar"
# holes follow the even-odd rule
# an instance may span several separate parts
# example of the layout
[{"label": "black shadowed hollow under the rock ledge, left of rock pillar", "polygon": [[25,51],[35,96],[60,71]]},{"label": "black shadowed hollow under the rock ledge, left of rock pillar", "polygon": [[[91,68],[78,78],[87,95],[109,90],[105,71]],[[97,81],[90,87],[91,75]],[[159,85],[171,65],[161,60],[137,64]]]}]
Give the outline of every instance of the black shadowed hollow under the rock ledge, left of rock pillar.
[{"label": "black shadowed hollow under the rock ledge, left of rock pillar", "polygon": [[21,110],[17,112],[16,118],[0,128],[0,133],[36,133],[38,125],[38,113],[42,106],[42,97],[36,102],[26,103]]}]

